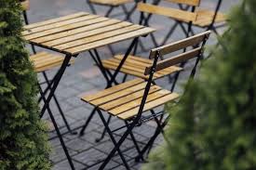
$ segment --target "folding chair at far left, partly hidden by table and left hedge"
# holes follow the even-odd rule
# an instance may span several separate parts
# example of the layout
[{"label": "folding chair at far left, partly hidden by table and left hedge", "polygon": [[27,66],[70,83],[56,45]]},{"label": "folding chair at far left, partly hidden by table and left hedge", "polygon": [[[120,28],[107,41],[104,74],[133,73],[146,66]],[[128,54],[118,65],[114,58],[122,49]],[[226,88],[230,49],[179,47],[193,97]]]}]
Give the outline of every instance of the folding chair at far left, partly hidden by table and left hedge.
[{"label": "folding chair at far left, partly hidden by table and left hedge", "polygon": [[[30,9],[30,0],[21,1],[21,7],[23,9],[22,14],[23,14],[24,22],[25,22],[26,25],[28,25],[29,20],[28,20],[26,11]],[[33,51],[34,55],[30,56],[30,59],[34,62],[34,70],[37,73],[42,73],[45,80],[46,80],[46,82],[38,83],[39,88],[41,88],[40,85],[42,85],[42,84],[45,84],[45,83],[47,85],[50,84],[50,80],[47,77],[47,71],[51,70],[55,67],[61,66],[61,63],[62,63],[64,58],[62,58],[59,55],[49,54],[47,52],[40,52],[40,53],[37,54],[33,45],[32,45],[32,51]],[[74,59],[71,60],[70,64],[72,64],[72,63],[74,63]],[[65,117],[65,115],[64,115],[64,113],[61,109],[60,102],[56,98],[55,95],[53,96],[53,99],[55,101],[55,104],[58,108],[58,111],[61,114],[61,118],[62,118],[65,126],[67,127],[68,131],[71,134],[76,134],[75,132],[72,131],[72,129],[70,127],[70,124],[68,123],[68,121],[67,121],[67,119],[66,119],[66,117]],[[38,101],[40,102],[41,100],[42,100],[42,97],[39,98]],[[43,115],[41,115],[41,117],[43,117]]]}]

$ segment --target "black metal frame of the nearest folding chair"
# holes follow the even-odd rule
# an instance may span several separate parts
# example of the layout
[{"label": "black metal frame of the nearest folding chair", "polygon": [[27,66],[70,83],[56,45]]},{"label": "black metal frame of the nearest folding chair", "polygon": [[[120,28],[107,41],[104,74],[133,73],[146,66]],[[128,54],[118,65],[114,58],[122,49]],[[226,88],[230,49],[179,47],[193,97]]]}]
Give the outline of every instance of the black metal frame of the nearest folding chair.
[{"label": "black metal frame of the nearest folding chair", "polygon": [[[197,65],[198,65],[199,61],[203,57],[203,46],[205,46],[205,44],[206,44],[208,39],[209,39],[209,34],[206,34],[204,39],[203,39],[203,41],[200,42],[201,50],[200,50],[200,53],[198,54],[197,59],[195,61],[195,66],[194,66],[194,68],[193,68],[193,70],[192,70],[192,72],[190,74],[190,79],[193,79],[195,77],[195,72],[196,72]],[[186,46],[186,47],[188,47],[188,46]],[[106,129],[107,133],[109,134],[109,136],[111,137],[111,140],[113,141],[113,143],[115,145],[115,148],[109,153],[109,155],[107,156],[106,160],[101,164],[99,170],[103,170],[105,168],[107,163],[109,163],[110,160],[115,156],[115,152],[116,151],[118,152],[119,156],[121,157],[121,159],[122,159],[124,165],[126,166],[126,168],[129,169],[128,163],[127,163],[127,161],[126,161],[122,151],[120,150],[121,145],[123,144],[123,142],[125,141],[125,139],[128,136],[131,136],[131,138],[133,140],[133,143],[135,145],[135,148],[138,151],[138,156],[136,156],[135,161],[140,161],[140,160],[143,160],[143,154],[147,150],[150,150],[152,148],[153,143],[155,141],[155,138],[158,137],[158,135],[160,133],[162,133],[164,135],[164,130],[163,129],[166,126],[166,124],[168,124],[168,120],[170,118],[169,115],[168,115],[168,118],[165,119],[164,121],[162,120],[163,119],[162,115],[164,114],[164,112],[155,113],[155,111],[152,110],[151,111],[151,116],[149,118],[147,118],[147,117],[143,118],[143,116],[142,116],[142,112],[143,112],[143,109],[144,109],[144,105],[146,103],[147,96],[149,94],[150,87],[151,87],[152,84],[154,84],[153,75],[155,73],[157,60],[160,59],[160,56],[161,56],[161,50],[157,49],[155,51],[155,58],[154,58],[153,66],[150,68],[149,79],[147,80],[147,85],[145,87],[145,91],[144,91],[144,94],[143,94],[142,99],[141,99],[141,105],[140,105],[140,109],[138,111],[138,114],[137,114],[137,116],[135,118],[129,120],[129,123],[126,122],[127,131],[123,134],[123,136],[118,141],[115,140],[115,137],[114,137],[114,134],[113,134],[115,132],[115,130],[112,131],[110,129],[109,124],[108,124],[108,120],[107,121],[105,120],[101,110],[98,107],[96,107],[94,109],[95,111],[97,111],[99,113],[99,115],[101,117],[101,121],[102,121],[102,123],[105,126],[105,129]],[[180,63],[180,61],[179,62],[177,61],[177,63],[172,63],[172,64],[176,65],[178,63]],[[160,119],[157,119],[157,117],[160,117]],[[154,119],[155,123],[157,124],[157,127],[155,129],[155,134],[154,134],[153,137],[150,138],[150,140],[144,146],[144,148],[142,150],[140,150],[140,148],[138,147],[137,141],[136,141],[135,137],[132,134],[132,130],[133,130],[134,127],[140,126],[144,122],[147,122],[148,120],[152,120],[152,119]],[[120,129],[120,128],[117,128],[117,129]]]}]

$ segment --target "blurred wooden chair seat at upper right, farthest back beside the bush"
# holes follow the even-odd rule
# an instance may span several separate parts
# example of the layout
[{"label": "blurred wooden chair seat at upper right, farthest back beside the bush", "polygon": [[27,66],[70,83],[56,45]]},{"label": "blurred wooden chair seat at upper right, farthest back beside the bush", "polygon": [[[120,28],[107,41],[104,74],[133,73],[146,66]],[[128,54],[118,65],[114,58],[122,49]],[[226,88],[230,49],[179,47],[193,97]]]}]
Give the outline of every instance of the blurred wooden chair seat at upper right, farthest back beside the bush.
[{"label": "blurred wooden chair seat at upper right, farthest back beside the bush", "polygon": [[[214,11],[210,11],[207,9],[198,9],[196,12],[197,12],[197,18],[193,22],[193,24],[199,27],[208,27],[213,20]],[[218,12],[214,23],[222,23],[225,20],[226,20],[225,15],[222,14],[221,12]]]}]

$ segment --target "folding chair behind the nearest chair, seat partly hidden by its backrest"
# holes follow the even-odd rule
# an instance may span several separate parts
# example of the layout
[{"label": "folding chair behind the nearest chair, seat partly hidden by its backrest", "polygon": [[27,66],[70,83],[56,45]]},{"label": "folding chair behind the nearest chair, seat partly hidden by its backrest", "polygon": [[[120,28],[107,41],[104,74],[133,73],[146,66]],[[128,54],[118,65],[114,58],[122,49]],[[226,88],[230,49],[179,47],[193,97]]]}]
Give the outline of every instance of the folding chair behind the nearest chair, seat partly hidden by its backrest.
[{"label": "folding chair behind the nearest chair, seat partly hidden by its backrest", "polygon": [[[146,4],[145,0],[143,0],[143,3],[138,4],[138,10],[141,11],[140,24],[148,26],[148,20],[151,17],[151,13],[159,14],[159,12],[161,12],[161,14],[164,13],[164,14],[168,15],[168,17],[171,17],[171,16],[175,17],[177,15],[177,13],[179,12],[182,14],[182,16],[185,16],[186,18],[188,18],[190,20],[195,20],[195,18],[196,18],[195,13],[183,11],[181,9],[171,9],[170,7],[168,7],[168,12],[158,11],[158,8],[159,8],[159,7],[157,7],[158,3],[159,3],[159,1],[154,1],[152,5],[149,5],[149,4]],[[150,13],[150,14],[146,16],[144,12]],[[191,25],[192,24],[190,24],[189,29],[191,28]],[[153,34],[150,34],[150,35],[151,35],[152,39],[154,40],[154,38],[155,38],[154,35]],[[137,49],[135,48],[133,54],[136,53],[136,50]],[[127,75],[133,75],[135,77],[139,77],[139,78],[142,78],[145,80],[147,80],[149,78],[149,75],[144,75],[144,70],[146,67],[153,64],[153,60],[143,59],[138,56],[128,56],[126,59],[124,59],[124,56],[125,55],[117,55],[111,59],[104,59],[101,61],[102,66],[107,71],[116,71],[117,69],[119,69],[118,66],[120,65],[120,63],[125,60],[122,68],[120,68],[120,71],[119,71],[119,72],[125,73],[123,82],[125,82]],[[184,64],[182,64],[182,67],[183,66],[184,66]],[[164,76],[169,76],[171,73],[174,73],[174,72],[180,72],[182,70],[182,67],[173,66],[173,67],[169,67],[165,70],[155,72],[154,80],[162,78]],[[171,80],[171,77],[169,77],[169,79]],[[175,81],[176,81],[176,79],[178,79],[177,75],[175,76]],[[92,111],[91,114],[88,116],[87,122],[83,125],[83,127],[80,131],[80,136],[84,135],[85,130],[88,127],[88,124],[94,115],[94,112],[95,112],[95,110]],[[110,123],[110,121],[111,121],[111,116],[109,116],[108,123]],[[98,138],[96,141],[97,142],[100,141],[104,137],[105,133],[106,133],[106,130],[103,131],[101,137]]]}]

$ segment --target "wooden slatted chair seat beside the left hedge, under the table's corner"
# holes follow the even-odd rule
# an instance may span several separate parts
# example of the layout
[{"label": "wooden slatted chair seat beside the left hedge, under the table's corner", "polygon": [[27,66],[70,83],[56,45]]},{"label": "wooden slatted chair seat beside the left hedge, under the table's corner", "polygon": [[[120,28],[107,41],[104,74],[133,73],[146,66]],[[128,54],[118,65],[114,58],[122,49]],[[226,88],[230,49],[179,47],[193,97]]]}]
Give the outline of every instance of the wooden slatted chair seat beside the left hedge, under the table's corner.
[{"label": "wooden slatted chair seat beside the left hedge, under the table's corner", "polygon": [[[31,56],[30,59],[34,63],[35,72],[45,72],[47,70],[61,66],[65,58],[47,52],[40,52]],[[71,59],[70,64],[73,63],[74,59]]]}]

